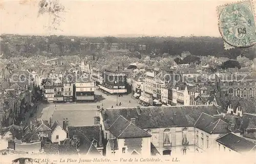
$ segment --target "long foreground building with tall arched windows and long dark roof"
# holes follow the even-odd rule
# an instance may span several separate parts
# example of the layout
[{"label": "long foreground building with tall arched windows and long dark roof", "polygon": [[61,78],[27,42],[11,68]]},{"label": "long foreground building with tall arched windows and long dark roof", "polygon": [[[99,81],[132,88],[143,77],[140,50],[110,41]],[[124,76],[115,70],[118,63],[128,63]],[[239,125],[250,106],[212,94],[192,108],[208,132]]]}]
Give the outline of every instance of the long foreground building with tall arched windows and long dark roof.
[{"label": "long foreground building with tall arched windows and long dark roof", "polygon": [[[120,115],[126,120],[131,120],[134,125],[143,129],[151,135],[152,155],[172,155],[172,154],[194,154],[195,152],[195,127],[197,119],[202,112],[210,115],[218,114],[217,107],[212,105],[202,106],[173,106],[173,107],[137,107],[121,109],[102,109],[99,116],[95,117],[96,124],[100,123],[105,134],[105,139],[117,142],[118,137],[113,137],[111,125]],[[114,114],[115,113],[115,114]],[[108,118],[108,119],[106,119]],[[155,118],[158,119],[156,122]],[[127,121],[126,121],[127,122]],[[129,123],[119,122],[117,129],[123,128]],[[130,127],[127,129],[131,129]],[[137,132],[138,130],[136,130]],[[123,133],[122,138],[130,138],[132,133]],[[137,134],[137,133],[133,133]],[[141,135],[142,133],[140,133]],[[142,137],[142,136],[140,136]],[[148,137],[148,136],[143,136]],[[115,139],[117,140],[115,140]],[[138,137],[139,138],[139,137]],[[127,139],[128,140],[128,139]],[[139,139],[140,141],[143,139]],[[142,144],[137,144],[141,146]],[[136,145],[136,146],[137,146]],[[123,145],[120,145],[123,147]],[[118,145],[118,149],[120,149]],[[135,145],[134,145],[135,147]],[[134,148],[133,147],[133,148]],[[124,147],[125,148],[125,147]],[[125,149],[124,149],[125,150]],[[142,150],[142,149],[140,149]]]}]

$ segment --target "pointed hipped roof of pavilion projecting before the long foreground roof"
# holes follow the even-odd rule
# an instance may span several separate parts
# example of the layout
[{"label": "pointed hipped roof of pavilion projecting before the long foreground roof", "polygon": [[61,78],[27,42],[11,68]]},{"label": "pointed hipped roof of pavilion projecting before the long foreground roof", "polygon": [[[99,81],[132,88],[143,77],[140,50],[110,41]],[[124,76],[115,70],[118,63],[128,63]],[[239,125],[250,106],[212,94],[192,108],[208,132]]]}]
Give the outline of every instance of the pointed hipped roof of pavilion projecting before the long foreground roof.
[{"label": "pointed hipped roof of pavilion projecting before the long foreground roof", "polygon": [[150,134],[126,120],[122,115],[108,129],[117,138],[143,138]]}]

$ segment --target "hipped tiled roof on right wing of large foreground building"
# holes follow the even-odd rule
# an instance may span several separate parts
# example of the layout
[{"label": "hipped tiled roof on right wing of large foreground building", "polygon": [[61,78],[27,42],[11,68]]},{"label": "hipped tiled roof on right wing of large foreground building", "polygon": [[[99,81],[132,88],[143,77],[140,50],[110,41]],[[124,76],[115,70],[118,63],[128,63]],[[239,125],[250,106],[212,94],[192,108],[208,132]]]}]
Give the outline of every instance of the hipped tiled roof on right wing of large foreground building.
[{"label": "hipped tiled roof on right wing of large foreground building", "polygon": [[231,132],[228,129],[228,123],[224,122],[219,116],[211,116],[202,113],[197,120],[195,127],[209,134],[225,134]]}]

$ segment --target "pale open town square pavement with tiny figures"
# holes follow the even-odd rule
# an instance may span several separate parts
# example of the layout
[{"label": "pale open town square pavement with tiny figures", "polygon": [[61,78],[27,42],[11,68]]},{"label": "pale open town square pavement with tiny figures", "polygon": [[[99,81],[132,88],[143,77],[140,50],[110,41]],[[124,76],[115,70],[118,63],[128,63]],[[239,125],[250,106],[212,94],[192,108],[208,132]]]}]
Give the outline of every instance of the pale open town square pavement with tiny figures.
[{"label": "pale open town square pavement with tiny figures", "polygon": [[[62,120],[68,118],[70,126],[86,126],[94,124],[94,116],[97,114],[97,106],[100,108],[120,108],[120,107],[137,107],[141,106],[137,99],[133,99],[132,95],[106,95],[105,93],[95,89],[95,95],[99,101],[95,103],[63,103],[63,104],[40,104],[37,110],[37,120],[43,119],[49,121],[52,117],[53,122],[57,120],[62,124]],[[102,97],[99,97],[102,95]],[[129,102],[131,101],[131,103]],[[118,106],[116,105],[118,102]],[[121,106],[119,103],[121,102]]]}]

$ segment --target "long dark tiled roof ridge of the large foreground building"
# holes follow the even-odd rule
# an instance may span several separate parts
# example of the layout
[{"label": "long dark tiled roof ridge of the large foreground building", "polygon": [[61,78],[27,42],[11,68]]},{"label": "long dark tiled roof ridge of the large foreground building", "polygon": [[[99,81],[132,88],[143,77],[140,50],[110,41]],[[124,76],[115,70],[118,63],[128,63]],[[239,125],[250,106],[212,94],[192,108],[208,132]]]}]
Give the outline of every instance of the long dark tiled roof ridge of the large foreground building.
[{"label": "long dark tiled roof ridge of the large foreground building", "polygon": [[199,106],[171,106],[171,107],[140,107],[137,108],[109,108],[105,109],[105,128],[109,128],[122,115],[125,119],[136,118],[136,125],[142,129],[172,126],[194,126],[202,112],[210,115],[219,114],[217,107],[212,105]]}]

